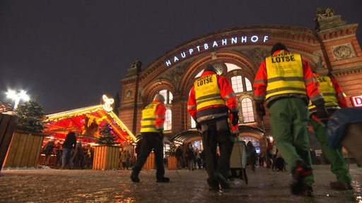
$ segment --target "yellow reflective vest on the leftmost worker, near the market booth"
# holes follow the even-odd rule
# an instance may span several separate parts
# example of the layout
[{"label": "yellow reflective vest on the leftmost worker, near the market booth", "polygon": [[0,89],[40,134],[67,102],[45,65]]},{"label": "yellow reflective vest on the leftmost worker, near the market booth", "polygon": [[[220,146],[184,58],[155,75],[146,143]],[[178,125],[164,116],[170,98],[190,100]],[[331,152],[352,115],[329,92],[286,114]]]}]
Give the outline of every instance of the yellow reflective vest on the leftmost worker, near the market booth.
[{"label": "yellow reflective vest on the leftmost worker, near the market booth", "polygon": [[142,110],[141,133],[158,132],[156,128],[156,109],[159,102],[152,102]]}]

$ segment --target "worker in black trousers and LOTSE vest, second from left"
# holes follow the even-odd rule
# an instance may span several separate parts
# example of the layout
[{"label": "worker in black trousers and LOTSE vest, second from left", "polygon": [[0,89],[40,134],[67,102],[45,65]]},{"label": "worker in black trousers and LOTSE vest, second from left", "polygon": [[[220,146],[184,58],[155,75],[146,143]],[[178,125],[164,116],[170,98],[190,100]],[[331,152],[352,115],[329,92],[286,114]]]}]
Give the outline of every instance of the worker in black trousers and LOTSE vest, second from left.
[{"label": "worker in black trousers and LOTSE vest, second from left", "polygon": [[233,87],[228,78],[221,75],[222,72],[223,68],[218,64],[207,64],[201,77],[194,82],[187,101],[187,111],[202,133],[210,190],[218,190],[219,186],[223,189],[230,187],[226,178],[230,170],[233,137],[228,119],[233,125],[239,122]]}]

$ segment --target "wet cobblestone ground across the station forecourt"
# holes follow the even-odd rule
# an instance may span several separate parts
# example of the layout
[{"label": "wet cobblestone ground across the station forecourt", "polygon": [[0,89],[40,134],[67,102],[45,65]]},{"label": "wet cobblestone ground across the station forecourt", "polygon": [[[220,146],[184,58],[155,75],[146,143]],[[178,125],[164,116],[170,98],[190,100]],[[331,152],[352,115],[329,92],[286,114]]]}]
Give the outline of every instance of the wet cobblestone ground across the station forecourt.
[{"label": "wet cobblestone ground across the station forecourt", "polygon": [[248,171],[249,183],[230,180],[232,188],[210,192],[206,171],[168,170],[170,183],[156,183],[156,171],[141,171],[132,183],[131,171],[6,170],[0,172],[0,202],[362,202],[362,168],[350,165],[354,190],[329,187],[329,165],[314,166],[315,197],[290,194],[286,171],[260,167]]}]

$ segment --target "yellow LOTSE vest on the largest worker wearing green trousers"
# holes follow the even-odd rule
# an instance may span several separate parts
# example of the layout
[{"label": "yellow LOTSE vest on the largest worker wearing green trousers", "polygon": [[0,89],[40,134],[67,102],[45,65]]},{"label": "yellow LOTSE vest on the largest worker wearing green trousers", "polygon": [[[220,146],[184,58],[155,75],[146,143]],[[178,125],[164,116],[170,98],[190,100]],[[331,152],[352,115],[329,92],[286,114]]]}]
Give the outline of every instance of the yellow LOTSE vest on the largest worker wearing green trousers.
[{"label": "yellow LOTSE vest on the largest worker wearing green trousers", "polygon": [[268,74],[265,99],[279,94],[307,94],[300,54],[280,52],[267,57],[265,64]]}]

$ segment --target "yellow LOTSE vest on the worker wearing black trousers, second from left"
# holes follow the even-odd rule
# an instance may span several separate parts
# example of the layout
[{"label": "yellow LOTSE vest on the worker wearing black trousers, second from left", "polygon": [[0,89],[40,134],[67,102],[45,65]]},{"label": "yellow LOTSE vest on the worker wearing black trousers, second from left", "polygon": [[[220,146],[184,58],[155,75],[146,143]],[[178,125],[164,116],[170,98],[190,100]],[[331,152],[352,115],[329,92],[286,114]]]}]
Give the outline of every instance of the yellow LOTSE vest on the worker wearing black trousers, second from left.
[{"label": "yellow LOTSE vest on the worker wearing black trousers, second from left", "polygon": [[197,110],[206,106],[226,105],[221,98],[216,74],[205,75],[194,82]]}]

